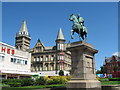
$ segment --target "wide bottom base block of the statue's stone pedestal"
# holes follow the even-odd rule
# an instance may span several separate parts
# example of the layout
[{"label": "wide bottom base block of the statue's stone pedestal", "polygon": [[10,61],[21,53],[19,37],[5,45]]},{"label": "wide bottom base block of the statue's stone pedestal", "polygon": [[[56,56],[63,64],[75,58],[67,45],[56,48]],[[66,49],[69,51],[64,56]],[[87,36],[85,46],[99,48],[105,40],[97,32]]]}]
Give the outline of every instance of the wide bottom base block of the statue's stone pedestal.
[{"label": "wide bottom base block of the statue's stone pedestal", "polygon": [[101,83],[98,80],[71,80],[67,90],[101,90]]}]

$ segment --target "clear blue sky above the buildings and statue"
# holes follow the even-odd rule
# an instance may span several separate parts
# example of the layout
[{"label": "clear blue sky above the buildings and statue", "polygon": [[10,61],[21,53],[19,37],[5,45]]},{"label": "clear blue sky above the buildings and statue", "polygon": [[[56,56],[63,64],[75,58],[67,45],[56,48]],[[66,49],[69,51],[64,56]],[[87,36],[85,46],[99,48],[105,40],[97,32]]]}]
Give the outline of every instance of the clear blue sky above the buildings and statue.
[{"label": "clear blue sky above the buildings and statue", "polygon": [[58,30],[62,28],[67,42],[79,41],[78,35],[70,38],[73,23],[70,15],[80,14],[88,29],[87,43],[99,50],[95,55],[96,69],[105,57],[118,51],[117,2],[3,2],[2,42],[15,45],[15,35],[26,20],[33,48],[38,38],[45,46],[54,46]]}]

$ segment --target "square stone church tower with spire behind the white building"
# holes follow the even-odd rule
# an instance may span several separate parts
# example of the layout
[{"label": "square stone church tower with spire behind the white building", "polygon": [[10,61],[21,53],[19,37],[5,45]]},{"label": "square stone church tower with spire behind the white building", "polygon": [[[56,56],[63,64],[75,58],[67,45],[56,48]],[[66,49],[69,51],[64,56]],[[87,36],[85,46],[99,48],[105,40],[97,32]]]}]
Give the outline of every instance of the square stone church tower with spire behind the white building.
[{"label": "square stone church tower with spire behind the white building", "polygon": [[30,48],[30,40],[31,37],[28,33],[26,21],[23,21],[23,24],[20,28],[19,33],[16,34],[16,42],[15,42],[15,47],[20,50],[26,51],[27,49]]}]

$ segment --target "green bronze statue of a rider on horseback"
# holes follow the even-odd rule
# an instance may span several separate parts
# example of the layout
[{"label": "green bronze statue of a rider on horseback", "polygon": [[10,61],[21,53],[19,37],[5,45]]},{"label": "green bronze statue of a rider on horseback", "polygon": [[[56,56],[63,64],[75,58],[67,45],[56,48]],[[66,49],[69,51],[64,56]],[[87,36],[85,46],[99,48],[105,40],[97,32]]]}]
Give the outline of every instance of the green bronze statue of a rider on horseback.
[{"label": "green bronze statue of a rider on horseback", "polygon": [[78,14],[78,17],[76,17],[74,14],[70,15],[70,21],[73,21],[73,26],[71,30],[71,38],[73,39],[74,32],[76,32],[79,35],[79,38],[81,40],[87,39],[87,28],[84,26],[84,19]]}]

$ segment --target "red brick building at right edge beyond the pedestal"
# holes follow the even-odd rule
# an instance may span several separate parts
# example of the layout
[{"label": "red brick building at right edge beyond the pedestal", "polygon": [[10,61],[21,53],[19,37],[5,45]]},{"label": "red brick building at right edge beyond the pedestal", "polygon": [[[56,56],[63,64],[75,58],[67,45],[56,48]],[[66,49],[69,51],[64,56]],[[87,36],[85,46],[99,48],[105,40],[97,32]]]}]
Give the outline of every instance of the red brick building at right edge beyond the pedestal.
[{"label": "red brick building at right edge beyond the pedestal", "polygon": [[120,71],[120,57],[113,55],[111,57],[105,57],[104,70],[107,74],[111,74],[115,69]]}]

